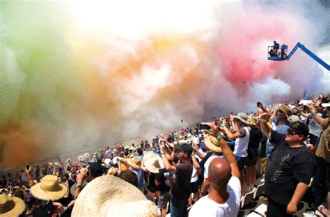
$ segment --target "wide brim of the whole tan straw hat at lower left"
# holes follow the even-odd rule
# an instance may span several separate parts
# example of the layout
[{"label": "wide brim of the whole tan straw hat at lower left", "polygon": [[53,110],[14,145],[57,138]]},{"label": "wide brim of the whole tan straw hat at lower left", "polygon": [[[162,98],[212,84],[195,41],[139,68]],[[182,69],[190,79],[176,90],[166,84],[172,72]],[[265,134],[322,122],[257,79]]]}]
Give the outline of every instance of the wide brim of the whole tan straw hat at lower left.
[{"label": "wide brim of the whole tan straw hat at lower left", "polygon": [[65,193],[67,193],[68,188],[64,184],[59,184],[61,186],[60,191],[45,191],[40,188],[41,182],[35,184],[31,187],[31,194],[33,197],[38,198],[39,200],[59,200],[63,198]]}]

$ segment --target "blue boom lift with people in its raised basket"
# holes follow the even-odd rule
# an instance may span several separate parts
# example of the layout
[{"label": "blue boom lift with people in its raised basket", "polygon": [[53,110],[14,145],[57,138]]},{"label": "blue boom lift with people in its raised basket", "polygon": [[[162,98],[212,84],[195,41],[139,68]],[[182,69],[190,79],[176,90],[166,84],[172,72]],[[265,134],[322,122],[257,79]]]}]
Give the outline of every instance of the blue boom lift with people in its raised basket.
[{"label": "blue boom lift with people in its raised basket", "polygon": [[[278,45],[278,44],[277,44]],[[304,51],[308,56],[311,56],[311,58],[314,59],[317,63],[320,63],[323,67],[325,67],[328,71],[330,70],[330,65],[322,61],[318,56],[313,54],[312,51],[307,49],[304,45],[301,45],[299,42],[296,46],[292,49],[289,55],[287,55],[288,51],[288,45],[282,45],[282,46],[268,46],[268,60],[269,61],[288,61],[290,60],[291,56],[294,54],[297,49],[300,48],[302,51]]]}]

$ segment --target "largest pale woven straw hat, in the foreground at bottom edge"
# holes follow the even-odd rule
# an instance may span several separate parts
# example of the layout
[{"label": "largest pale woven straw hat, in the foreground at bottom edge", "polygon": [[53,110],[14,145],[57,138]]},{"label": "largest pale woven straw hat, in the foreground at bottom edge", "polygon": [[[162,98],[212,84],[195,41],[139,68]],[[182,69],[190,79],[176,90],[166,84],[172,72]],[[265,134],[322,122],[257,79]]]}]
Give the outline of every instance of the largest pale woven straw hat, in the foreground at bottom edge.
[{"label": "largest pale woven straw hat, in the foreground at bottom edge", "polygon": [[79,194],[72,216],[160,216],[156,205],[123,179],[106,175],[93,179]]}]

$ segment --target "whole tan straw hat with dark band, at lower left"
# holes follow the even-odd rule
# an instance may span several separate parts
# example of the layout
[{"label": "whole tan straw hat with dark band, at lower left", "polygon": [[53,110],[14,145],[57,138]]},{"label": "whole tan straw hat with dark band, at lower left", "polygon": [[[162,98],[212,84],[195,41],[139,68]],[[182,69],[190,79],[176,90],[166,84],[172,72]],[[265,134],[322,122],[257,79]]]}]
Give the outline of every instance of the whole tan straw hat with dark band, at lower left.
[{"label": "whole tan straw hat with dark band, at lower left", "polygon": [[68,188],[59,184],[56,175],[46,175],[41,182],[31,187],[33,197],[40,200],[58,200],[63,198]]}]

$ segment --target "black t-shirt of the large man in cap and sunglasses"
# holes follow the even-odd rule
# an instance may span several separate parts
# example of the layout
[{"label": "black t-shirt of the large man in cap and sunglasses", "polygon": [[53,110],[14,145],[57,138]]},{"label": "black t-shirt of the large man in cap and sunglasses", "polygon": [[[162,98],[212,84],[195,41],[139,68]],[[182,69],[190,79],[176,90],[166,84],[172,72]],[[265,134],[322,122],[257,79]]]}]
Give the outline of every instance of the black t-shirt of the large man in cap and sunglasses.
[{"label": "black t-shirt of the large man in cap and sunglasses", "polygon": [[265,172],[265,193],[278,203],[288,204],[299,182],[309,184],[315,174],[315,156],[307,147],[290,147],[285,135],[272,131],[274,150]]}]

